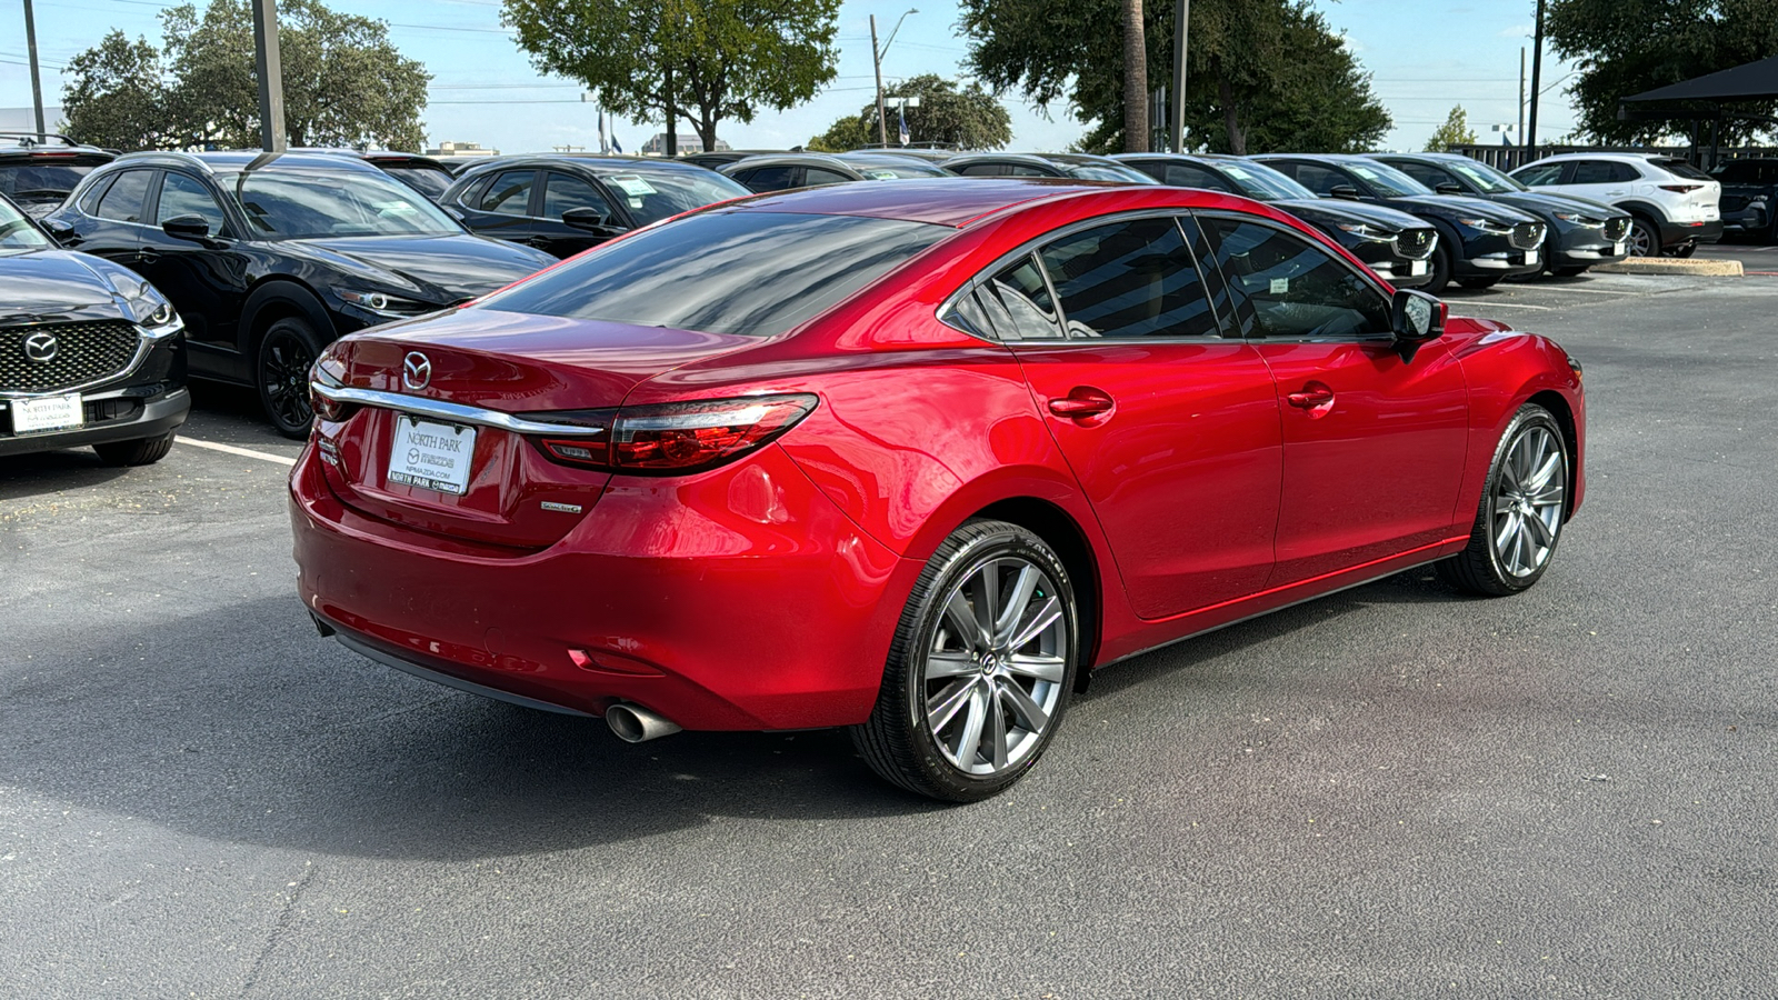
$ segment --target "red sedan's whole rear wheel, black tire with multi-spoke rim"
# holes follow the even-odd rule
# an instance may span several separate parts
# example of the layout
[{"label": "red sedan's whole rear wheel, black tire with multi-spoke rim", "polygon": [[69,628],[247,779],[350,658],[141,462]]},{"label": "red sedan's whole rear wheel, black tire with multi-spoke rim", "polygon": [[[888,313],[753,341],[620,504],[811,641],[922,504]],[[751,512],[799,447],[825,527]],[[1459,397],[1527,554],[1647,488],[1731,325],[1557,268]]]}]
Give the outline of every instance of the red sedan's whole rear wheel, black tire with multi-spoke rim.
[{"label": "red sedan's whole rear wheel, black tire with multi-spoke rim", "polygon": [[[1037,571],[1031,582],[1024,568]],[[989,577],[996,584],[985,598],[981,580]],[[1017,614],[994,614],[1021,591]],[[983,630],[976,616],[996,617],[994,628]],[[967,625],[953,626],[960,621],[976,628],[965,633]],[[1037,621],[1047,625],[1035,639],[1017,646],[996,639],[978,653],[981,632],[1010,637]],[[1019,525],[969,521],[944,539],[914,584],[889,646],[877,706],[852,728],[852,742],[877,774],[909,792],[949,802],[987,799],[1029,772],[1061,726],[1079,665],[1079,605],[1054,550]],[[1033,674],[1026,687],[1021,674],[1031,664],[1042,664],[1047,678]],[[1019,694],[1008,685],[1017,685]],[[1021,708],[1021,698],[1028,708]],[[1029,710],[1044,715],[1035,730]],[[937,715],[942,721],[933,722]],[[996,733],[999,738],[992,738]]]}]

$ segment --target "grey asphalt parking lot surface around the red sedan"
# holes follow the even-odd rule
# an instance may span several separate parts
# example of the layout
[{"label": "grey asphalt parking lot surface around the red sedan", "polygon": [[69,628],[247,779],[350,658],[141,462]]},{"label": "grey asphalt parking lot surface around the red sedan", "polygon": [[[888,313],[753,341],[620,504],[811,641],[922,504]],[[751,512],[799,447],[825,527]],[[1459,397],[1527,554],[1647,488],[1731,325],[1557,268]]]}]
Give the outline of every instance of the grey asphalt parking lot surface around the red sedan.
[{"label": "grey asphalt parking lot surface around the red sedan", "polygon": [[1536,589],[1120,664],[964,808],[843,733],[626,746],[318,639],[244,393],[151,468],[11,459],[0,995],[1778,995],[1778,249],[1703,253],[1750,276],[1451,295],[1586,365]]}]

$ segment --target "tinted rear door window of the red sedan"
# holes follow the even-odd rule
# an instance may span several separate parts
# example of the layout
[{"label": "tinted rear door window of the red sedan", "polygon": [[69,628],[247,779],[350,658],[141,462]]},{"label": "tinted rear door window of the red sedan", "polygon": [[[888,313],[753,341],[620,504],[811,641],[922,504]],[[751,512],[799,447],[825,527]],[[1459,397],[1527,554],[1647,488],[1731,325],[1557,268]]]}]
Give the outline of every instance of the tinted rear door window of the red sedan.
[{"label": "tinted rear door window of the red sedan", "polygon": [[1172,219],[1133,219],[1042,251],[1069,336],[1216,335],[1198,270]]}]

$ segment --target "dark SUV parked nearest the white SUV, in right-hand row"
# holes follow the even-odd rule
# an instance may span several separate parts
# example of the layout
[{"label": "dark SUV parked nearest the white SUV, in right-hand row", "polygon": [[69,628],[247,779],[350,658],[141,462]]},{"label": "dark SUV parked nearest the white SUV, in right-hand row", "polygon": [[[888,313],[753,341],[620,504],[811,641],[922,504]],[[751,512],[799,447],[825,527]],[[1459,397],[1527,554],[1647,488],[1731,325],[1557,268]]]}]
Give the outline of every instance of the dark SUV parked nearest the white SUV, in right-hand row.
[{"label": "dark SUV parked nearest the white SUV, in right-hand row", "polygon": [[1630,256],[1630,214],[1604,201],[1531,190],[1501,171],[1458,153],[1371,153],[1438,194],[1467,194],[1511,205],[1543,221],[1543,269],[1574,278],[1595,263]]}]

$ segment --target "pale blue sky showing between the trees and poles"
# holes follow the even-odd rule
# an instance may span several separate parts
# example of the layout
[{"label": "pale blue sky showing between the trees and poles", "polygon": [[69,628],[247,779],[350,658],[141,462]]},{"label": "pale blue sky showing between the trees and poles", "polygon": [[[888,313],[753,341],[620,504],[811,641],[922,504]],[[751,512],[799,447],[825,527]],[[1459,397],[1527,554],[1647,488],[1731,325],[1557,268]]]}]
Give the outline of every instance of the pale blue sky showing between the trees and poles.
[{"label": "pale blue sky showing between the trees and poles", "polygon": [[[1156,0],[1150,0],[1156,2]],[[1159,0],[1170,2],[1170,0]],[[36,0],[37,50],[44,64],[44,101],[62,93],[59,69],[110,28],[158,43],[156,11],[174,0]],[[1374,75],[1373,87],[1396,119],[1387,148],[1421,148],[1426,135],[1462,103],[1483,141],[1499,141],[1490,125],[1518,119],[1518,50],[1531,44],[1534,0],[1316,0],[1328,21]],[[334,7],[389,23],[402,53],[434,75],[425,110],[428,144],[444,139],[480,142],[501,151],[549,146],[596,146],[594,107],[580,103],[580,87],[532,69],[500,27],[500,0],[334,0]],[[786,148],[825,132],[843,114],[871,100],[869,16],[887,36],[903,11],[919,7],[884,57],[884,80],[917,73],[960,75],[965,55],[957,37],[953,0],[846,0],[839,11],[839,75],[807,105],[766,112],[752,125],[729,123],[722,139],[738,148]],[[1106,30],[1118,30],[1108,23]],[[0,107],[30,105],[21,0],[0,0]],[[1527,55],[1529,64],[1529,55]],[[1540,139],[1574,128],[1574,112],[1558,84],[1568,66],[1545,53],[1545,103]],[[1529,77],[1529,69],[1527,69]],[[1049,114],[1006,96],[1015,149],[1060,149],[1083,132],[1063,105]],[[52,123],[53,126],[53,123]],[[661,128],[621,123],[626,148]],[[681,133],[690,133],[681,125]]]}]

